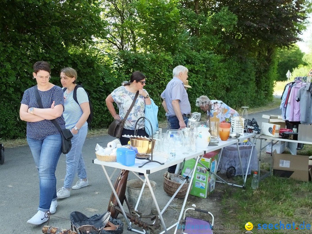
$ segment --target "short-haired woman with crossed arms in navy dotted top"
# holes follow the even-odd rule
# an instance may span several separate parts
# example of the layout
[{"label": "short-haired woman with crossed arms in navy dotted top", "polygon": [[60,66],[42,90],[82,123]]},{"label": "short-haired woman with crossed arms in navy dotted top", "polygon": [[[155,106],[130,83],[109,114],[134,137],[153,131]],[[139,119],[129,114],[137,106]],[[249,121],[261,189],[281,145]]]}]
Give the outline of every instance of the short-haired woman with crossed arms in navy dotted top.
[{"label": "short-haired woman with crossed arms in navy dotted top", "polygon": [[49,82],[50,65],[39,61],[33,68],[43,109],[37,103],[35,85],[24,92],[20,118],[27,122],[27,142],[39,173],[38,212],[27,223],[39,225],[48,221],[48,213],[54,214],[57,207],[55,170],[62,153],[62,139],[51,119],[55,119],[61,129],[65,129],[65,121],[63,90]]}]

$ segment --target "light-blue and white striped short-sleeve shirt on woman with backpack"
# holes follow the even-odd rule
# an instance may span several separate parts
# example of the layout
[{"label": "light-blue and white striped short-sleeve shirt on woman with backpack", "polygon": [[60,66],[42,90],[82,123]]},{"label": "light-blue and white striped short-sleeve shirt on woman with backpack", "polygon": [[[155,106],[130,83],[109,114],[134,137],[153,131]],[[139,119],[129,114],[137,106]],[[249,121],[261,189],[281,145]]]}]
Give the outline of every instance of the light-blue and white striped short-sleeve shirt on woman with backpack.
[{"label": "light-blue and white striped short-sleeve shirt on woman with backpack", "polygon": [[[67,90],[65,90],[64,92],[64,97],[66,97],[66,99],[64,100],[65,110],[63,112],[63,116],[67,129],[72,129],[73,127],[75,127],[76,123],[83,114],[80,104],[84,102],[89,102],[88,95],[83,88],[79,87],[77,89],[77,100],[79,105],[74,100],[73,94],[74,90],[71,91],[69,94],[67,94]],[[88,125],[87,121],[85,121],[82,127],[84,127],[85,125]]]}]

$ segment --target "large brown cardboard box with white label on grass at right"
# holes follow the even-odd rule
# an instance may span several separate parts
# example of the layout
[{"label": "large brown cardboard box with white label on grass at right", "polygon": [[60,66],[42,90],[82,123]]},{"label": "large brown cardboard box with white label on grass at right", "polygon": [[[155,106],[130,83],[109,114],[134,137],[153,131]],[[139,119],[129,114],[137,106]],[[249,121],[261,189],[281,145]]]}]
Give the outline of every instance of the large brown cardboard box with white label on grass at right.
[{"label": "large brown cardboard box with white label on grass at right", "polygon": [[309,156],[273,152],[273,175],[306,182],[311,173]]}]

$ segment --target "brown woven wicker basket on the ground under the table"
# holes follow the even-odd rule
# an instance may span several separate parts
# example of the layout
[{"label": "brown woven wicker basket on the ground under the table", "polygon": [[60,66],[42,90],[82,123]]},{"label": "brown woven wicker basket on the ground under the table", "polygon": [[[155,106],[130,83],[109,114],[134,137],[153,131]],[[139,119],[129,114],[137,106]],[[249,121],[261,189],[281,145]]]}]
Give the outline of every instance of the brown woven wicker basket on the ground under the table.
[{"label": "brown woven wicker basket on the ground under the table", "polygon": [[[180,187],[180,183],[178,182],[175,182],[173,180],[170,180],[170,176],[176,176],[180,179],[184,179],[183,176],[181,175],[176,175],[176,174],[173,174],[173,173],[169,173],[169,172],[166,172],[163,174],[163,177],[164,177],[164,180],[163,180],[163,190],[169,195],[169,196],[172,196],[177,190],[178,188]],[[183,184],[182,188],[180,189],[180,191],[177,193],[177,195],[175,197],[177,198],[184,198],[185,195],[186,195],[186,192],[188,190],[188,184],[189,184],[189,180]]]}]

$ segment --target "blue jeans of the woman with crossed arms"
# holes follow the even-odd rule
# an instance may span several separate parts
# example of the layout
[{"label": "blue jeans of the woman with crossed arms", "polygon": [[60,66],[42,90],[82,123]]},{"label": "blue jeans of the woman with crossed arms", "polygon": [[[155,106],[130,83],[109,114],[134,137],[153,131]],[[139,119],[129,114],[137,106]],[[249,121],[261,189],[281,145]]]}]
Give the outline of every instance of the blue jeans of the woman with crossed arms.
[{"label": "blue jeans of the woman with crossed arms", "polygon": [[39,173],[39,207],[38,211],[46,212],[56,196],[55,170],[62,153],[61,134],[49,135],[37,140],[27,137]]}]

